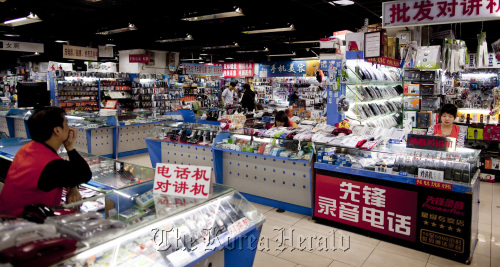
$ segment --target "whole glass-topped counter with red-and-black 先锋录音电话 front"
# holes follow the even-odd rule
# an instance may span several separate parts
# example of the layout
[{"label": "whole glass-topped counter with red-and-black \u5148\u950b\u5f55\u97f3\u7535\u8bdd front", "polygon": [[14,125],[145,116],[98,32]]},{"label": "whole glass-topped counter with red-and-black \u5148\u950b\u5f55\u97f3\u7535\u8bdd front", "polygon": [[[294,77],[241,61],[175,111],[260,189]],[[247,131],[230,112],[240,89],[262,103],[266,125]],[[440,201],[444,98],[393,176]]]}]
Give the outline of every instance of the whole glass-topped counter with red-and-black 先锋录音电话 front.
[{"label": "whole glass-topped counter with red-and-black \u5148\u950b\u5f55\u97f3\u7535\u8bdd front", "polygon": [[316,147],[314,219],[471,261],[478,238],[479,150]]}]

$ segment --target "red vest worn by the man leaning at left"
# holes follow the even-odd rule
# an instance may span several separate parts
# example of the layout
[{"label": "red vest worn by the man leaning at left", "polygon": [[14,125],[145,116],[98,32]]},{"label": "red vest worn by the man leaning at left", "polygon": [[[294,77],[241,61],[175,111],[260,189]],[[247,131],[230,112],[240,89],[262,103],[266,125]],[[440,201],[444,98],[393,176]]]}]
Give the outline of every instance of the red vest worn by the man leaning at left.
[{"label": "red vest worn by the man leaning at left", "polygon": [[18,216],[27,205],[61,205],[62,188],[50,192],[38,189],[38,179],[49,162],[61,159],[41,143],[29,142],[19,149],[10,165],[0,194],[0,214]]}]

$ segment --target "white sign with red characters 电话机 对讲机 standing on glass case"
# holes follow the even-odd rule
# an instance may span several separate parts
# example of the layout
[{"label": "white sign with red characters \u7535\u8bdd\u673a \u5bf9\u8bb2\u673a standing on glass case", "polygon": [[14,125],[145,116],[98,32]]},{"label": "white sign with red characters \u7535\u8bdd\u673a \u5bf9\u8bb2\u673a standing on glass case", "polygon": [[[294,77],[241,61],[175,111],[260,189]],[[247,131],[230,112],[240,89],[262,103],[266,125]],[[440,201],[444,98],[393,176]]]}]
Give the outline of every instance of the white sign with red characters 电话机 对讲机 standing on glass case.
[{"label": "white sign with red characters \u7535\u8bdd\u673a \u5bf9\u8bb2\u673a standing on glass case", "polygon": [[156,164],[153,192],[171,196],[208,198],[211,167]]}]

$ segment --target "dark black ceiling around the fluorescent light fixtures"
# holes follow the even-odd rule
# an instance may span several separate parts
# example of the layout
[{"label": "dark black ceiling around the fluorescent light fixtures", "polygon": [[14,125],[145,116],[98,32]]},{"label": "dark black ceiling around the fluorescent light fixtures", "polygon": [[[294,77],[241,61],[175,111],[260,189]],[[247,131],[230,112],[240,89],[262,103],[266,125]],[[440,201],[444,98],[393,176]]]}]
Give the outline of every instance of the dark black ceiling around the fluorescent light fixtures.
[{"label": "dark black ceiling around the fluorescent light fixtures", "polygon": [[[326,0],[217,0],[217,1],[151,1],[151,0],[0,0],[0,21],[37,14],[43,22],[19,27],[0,26],[0,38],[45,43],[40,61],[63,61],[62,44],[55,40],[68,40],[71,45],[92,46],[113,43],[115,51],[143,48],[150,50],[179,51],[181,57],[198,57],[200,53],[217,62],[227,57],[236,61],[265,61],[268,54],[295,51],[298,57],[314,56],[305,48],[318,44],[284,44],[286,41],[318,40],[334,31],[360,28],[364,19],[370,24],[381,22],[381,0],[359,0],[350,6],[333,6]],[[228,12],[240,7],[245,16],[225,19],[188,22],[181,18]],[[137,31],[97,35],[106,29],[126,27],[133,23]],[[294,24],[292,32],[269,34],[243,34],[249,29],[286,27]],[[466,26],[467,25],[467,26]],[[500,38],[499,21],[485,22],[488,42]],[[446,28],[448,27],[448,28]],[[441,26],[449,29],[450,25]],[[475,39],[481,23],[462,25],[463,39]],[[437,29],[437,28],[436,28]],[[488,31],[490,29],[491,31]],[[5,37],[16,33],[20,37]],[[191,34],[192,41],[158,43],[162,38],[181,38]],[[458,35],[458,34],[457,34]],[[459,35],[457,36],[459,37]],[[202,51],[202,47],[229,45],[239,48]],[[468,42],[469,47],[475,43]],[[263,50],[260,53],[236,53],[236,51]],[[313,48],[314,49],[314,48]],[[22,54],[0,53],[0,66],[15,63]],[[22,60],[23,58],[21,58]],[[32,58],[31,58],[32,59]],[[280,58],[273,58],[280,60]]]}]

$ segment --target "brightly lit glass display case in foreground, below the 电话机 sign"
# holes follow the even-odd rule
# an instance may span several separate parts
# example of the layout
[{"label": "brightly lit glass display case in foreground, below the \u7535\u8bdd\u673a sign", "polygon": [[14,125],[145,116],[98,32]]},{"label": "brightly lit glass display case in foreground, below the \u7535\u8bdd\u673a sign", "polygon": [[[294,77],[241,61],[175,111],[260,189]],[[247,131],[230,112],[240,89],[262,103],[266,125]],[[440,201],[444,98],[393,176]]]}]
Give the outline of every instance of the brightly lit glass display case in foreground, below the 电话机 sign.
[{"label": "brightly lit glass display case in foreground, below the \u7535\u8bdd\u673a sign", "polygon": [[[63,225],[61,218],[54,220],[59,231],[81,244],[58,266],[185,266],[243,234],[258,240],[258,232],[252,231],[265,217],[232,188],[214,184],[209,199],[157,195],[152,188],[152,182],[145,182],[108,194],[106,219],[90,213],[86,222]],[[81,224],[98,220],[109,227],[81,232]],[[228,261],[226,266],[237,265]]]}]

